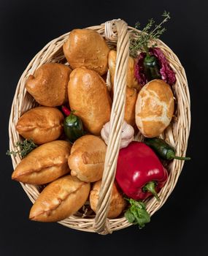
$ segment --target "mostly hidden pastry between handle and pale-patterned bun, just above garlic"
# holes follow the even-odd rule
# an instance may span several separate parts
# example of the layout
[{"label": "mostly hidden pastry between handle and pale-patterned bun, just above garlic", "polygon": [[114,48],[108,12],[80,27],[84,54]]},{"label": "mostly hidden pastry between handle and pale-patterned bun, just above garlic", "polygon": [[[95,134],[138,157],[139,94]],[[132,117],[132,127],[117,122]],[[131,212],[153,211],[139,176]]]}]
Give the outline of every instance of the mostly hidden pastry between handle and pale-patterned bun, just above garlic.
[{"label": "mostly hidden pastry between handle and pale-patterned bun, just above garlic", "polygon": [[137,91],[136,89],[126,87],[126,105],[125,105],[125,113],[124,120],[131,124],[132,127],[135,125],[135,105],[137,99]]}]

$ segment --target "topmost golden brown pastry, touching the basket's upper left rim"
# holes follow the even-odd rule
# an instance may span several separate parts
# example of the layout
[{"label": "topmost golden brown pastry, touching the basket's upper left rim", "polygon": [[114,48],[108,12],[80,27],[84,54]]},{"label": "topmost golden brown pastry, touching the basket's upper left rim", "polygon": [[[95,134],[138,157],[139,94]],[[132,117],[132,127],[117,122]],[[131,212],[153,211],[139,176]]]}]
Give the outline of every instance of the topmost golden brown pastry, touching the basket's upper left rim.
[{"label": "topmost golden brown pastry, touching the basket's upper left rim", "polygon": [[72,69],[87,67],[104,75],[109,48],[104,38],[92,29],[74,29],[63,44],[63,53]]}]

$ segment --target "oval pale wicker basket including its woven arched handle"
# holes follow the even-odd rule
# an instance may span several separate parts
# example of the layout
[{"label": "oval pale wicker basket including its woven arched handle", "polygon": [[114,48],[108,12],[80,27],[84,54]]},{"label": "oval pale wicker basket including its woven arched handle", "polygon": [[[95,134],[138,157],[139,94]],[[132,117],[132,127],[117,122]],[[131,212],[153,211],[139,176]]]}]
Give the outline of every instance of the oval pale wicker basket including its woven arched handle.
[{"label": "oval pale wicker basket including its woven arched handle", "polygon": [[[127,26],[123,20],[111,20],[107,21],[101,26],[91,26],[88,29],[98,31],[102,37],[106,40],[109,48],[115,48],[117,46],[117,60],[115,69],[115,89],[114,100],[112,103],[111,113],[111,129],[109,135],[109,145],[107,146],[107,154],[104,165],[104,175],[101,183],[101,192],[99,195],[99,205],[96,216],[88,211],[88,202],[85,204],[83,211],[78,211],[73,216],[64,219],[59,222],[61,225],[71,227],[77,230],[97,232],[101,234],[112,233],[112,231],[120,230],[131,224],[125,217],[117,219],[107,219],[107,209],[109,206],[109,195],[112,189],[112,184],[115,178],[115,169],[118,159],[121,127],[124,116],[124,105],[126,98],[126,69],[128,64],[129,55],[129,35],[132,31],[136,30]],[[9,140],[10,150],[15,149],[15,143],[20,140],[20,136],[15,129],[15,124],[18,118],[31,108],[36,106],[34,99],[26,92],[25,83],[28,75],[34,74],[35,70],[46,62],[59,62],[66,63],[66,59],[63,56],[63,42],[69,33],[63,34],[57,39],[53,39],[49,42],[45,48],[36,54],[34,59],[28,64],[25,72],[21,76],[15,97],[12,103],[12,110],[9,119]],[[161,138],[165,138],[172,146],[176,148],[176,152],[180,156],[185,156],[185,151],[188,143],[188,135],[190,131],[190,96],[188,91],[188,83],[185,75],[185,71],[180,64],[179,59],[172,50],[165,45],[161,40],[157,40],[158,47],[163,50],[166,58],[176,73],[177,82],[172,87],[174,91],[174,97],[176,99],[176,111],[174,118],[169,127],[163,132]],[[137,135],[135,140],[141,140],[142,136]],[[20,157],[12,157],[12,164],[15,168],[20,162]],[[147,200],[147,211],[152,216],[155,211],[158,211],[163,203],[166,202],[169,195],[174,189],[177,179],[180,176],[184,161],[174,160],[169,166],[169,179],[166,182],[165,187],[161,189],[159,193],[161,201],[158,202],[155,198]],[[29,184],[21,184],[26,194],[34,203],[39,196],[39,187]]]}]

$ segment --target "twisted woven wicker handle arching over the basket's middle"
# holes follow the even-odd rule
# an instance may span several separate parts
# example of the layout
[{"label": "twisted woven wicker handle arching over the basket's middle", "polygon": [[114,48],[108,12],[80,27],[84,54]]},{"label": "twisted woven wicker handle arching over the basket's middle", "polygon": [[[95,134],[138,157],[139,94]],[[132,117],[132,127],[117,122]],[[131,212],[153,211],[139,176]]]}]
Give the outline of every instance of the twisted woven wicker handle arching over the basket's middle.
[{"label": "twisted woven wicker handle arching over the basket's middle", "polygon": [[129,34],[126,22],[123,20],[112,20],[105,23],[105,30],[107,31],[105,34],[107,37],[110,36],[115,39],[115,33],[113,32],[114,27],[118,33],[114,95],[110,116],[107,154],[104,162],[104,173],[101,181],[99,202],[96,208],[96,218],[93,225],[94,230],[101,234],[111,233],[111,230],[109,230],[107,213],[120,148],[120,138],[126,102],[126,73],[129,56]]}]

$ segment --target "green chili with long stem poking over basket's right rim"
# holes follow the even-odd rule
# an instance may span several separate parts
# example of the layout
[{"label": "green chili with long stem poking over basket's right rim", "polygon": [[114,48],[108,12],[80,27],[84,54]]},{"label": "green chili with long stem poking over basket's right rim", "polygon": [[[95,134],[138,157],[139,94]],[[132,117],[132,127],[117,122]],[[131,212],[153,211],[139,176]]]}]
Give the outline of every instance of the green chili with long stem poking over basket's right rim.
[{"label": "green chili with long stem poking over basket's right rim", "polygon": [[175,155],[174,148],[161,138],[145,138],[145,144],[147,144],[147,146],[150,146],[150,148],[152,148],[155,151],[155,153],[158,154],[158,156],[163,159],[190,160],[190,157],[177,157]]}]

